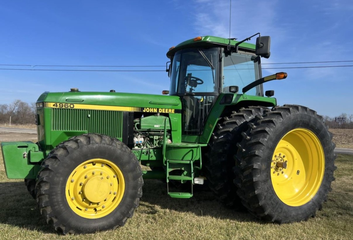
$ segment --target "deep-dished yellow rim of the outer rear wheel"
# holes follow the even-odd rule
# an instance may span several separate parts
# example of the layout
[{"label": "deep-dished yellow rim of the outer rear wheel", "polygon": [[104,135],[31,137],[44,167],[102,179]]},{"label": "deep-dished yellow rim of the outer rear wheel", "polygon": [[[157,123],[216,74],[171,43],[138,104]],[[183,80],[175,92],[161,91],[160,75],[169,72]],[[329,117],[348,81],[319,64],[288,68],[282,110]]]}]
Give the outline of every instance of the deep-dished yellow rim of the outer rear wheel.
[{"label": "deep-dished yellow rim of the outer rear wheel", "polygon": [[279,199],[293,207],[309,202],[324,176],[325,156],[310,130],[289,131],[276,146],[271,161],[271,182]]}]

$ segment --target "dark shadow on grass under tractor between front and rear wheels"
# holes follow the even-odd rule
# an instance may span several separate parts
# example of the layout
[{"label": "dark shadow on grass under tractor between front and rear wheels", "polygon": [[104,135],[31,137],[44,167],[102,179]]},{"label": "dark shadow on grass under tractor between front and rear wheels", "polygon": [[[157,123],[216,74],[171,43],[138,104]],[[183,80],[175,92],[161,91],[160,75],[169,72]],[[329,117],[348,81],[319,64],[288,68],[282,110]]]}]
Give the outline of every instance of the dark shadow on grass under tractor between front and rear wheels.
[{"label": "dark shadow on grass under tractor between front and rear wheels", "polygon": [[[183,190],[180,190],[183,191]],[[236,211],[226,208],[215,198],[213,192],[202,187],[194,185],[193,197],[187,199],[171,198],[167,194],[167,184],[160,180],[144,180],[143,196],[140,205],[144,206],[146,214],[157,214],[157,206],[161,209],[169,209],[178,212],[192,213],[197,216],[210,216],[216,219],[228,219],[240,222],[258,222],[256,217],[252,216],[245,209]],[[148,210],[147,210],[148,209]]]}]

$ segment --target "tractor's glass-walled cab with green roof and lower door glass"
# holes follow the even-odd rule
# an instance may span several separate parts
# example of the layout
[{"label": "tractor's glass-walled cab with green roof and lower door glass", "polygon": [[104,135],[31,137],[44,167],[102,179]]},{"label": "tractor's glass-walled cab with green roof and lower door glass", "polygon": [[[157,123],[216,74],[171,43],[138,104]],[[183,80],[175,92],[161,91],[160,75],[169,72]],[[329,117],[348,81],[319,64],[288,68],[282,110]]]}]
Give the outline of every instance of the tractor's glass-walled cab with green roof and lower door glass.
[{"label": "tractor's glass-walled cab with green roof and lower door glass", "polygon": [[[195,41],[196,39],[196,41]],[[260,56],[255,45],[230,48],[217,43],[219,38],[195,38],[171,48],[169,95],[180,96],[183,102],[183,134],[202,134],[205,121],[217,97],[222,93],[237,93],[261,78]],[[192,41],[192,42],[190,42]],[[234,47],[236,41],[231,40]],[[232,87],[232,88],[230,88]],[[262,85],[247,91],[247,95],[263,96]]]}]

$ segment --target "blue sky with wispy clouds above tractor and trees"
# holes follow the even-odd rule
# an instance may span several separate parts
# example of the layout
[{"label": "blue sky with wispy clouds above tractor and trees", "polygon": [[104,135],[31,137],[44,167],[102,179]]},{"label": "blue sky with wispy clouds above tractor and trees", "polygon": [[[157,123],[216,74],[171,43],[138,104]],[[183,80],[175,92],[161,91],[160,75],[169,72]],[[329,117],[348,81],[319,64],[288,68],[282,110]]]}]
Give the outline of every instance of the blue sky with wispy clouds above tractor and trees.
[{"label": "blue sky with wispy clouds above tractor and trees", "polygon": [[[233,0],[231,37],[271,36],[271,57],[263,63],[353,60],[352,21],[350,0]],[[0,64],[162,66],[167,50],[182,41],[228,37],[229,0],[14,0],[2,2],[0,22]],[[287,79],[264,85],[275,90],[278,104],[305,105],[331,117],[353,114],[353,67],[266,69],[263,75],[281,71],[288,73]],[[35,102],[44,91],[71,87],[160,94],[169,89],[169,79],[165,72],[0,70],[0,104]]]}]

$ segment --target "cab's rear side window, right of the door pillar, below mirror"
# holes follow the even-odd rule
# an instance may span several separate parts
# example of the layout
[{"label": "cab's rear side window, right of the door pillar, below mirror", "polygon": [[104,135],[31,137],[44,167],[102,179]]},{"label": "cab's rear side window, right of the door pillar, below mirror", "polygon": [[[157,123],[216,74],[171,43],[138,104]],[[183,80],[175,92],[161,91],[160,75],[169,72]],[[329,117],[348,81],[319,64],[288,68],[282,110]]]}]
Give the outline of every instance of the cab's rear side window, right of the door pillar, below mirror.
[{"label": "cab's rear side window, right of the door pillar, below mirror", "polygon": [[[258,58],[247,53],[223,53],[222,92],[229,93],[229,86],[238,86],[239,90],[260,78]],[[262,96],[261,85],[246,92],[247,95]]]}]

